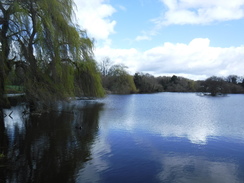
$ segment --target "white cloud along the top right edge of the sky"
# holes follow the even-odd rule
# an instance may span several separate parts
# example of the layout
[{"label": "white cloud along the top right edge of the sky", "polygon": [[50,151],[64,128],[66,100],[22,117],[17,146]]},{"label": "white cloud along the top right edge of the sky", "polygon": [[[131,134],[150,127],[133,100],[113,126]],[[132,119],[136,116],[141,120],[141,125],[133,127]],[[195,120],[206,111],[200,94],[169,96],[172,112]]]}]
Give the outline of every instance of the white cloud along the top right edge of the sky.
[{"label": "white cloud along the top right edge of the sky", "polygon": [[157,26],[170,24],[208,24],[244,17],[243,0],[161,0],[168,10],[153,21]]}]

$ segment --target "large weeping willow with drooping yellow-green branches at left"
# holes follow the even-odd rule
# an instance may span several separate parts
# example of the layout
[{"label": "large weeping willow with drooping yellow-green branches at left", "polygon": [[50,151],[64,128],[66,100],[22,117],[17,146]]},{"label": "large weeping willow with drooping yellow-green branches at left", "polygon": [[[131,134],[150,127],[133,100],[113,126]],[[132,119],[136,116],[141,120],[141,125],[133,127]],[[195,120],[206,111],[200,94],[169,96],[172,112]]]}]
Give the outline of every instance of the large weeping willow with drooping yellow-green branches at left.
[{"label": "large weeping willow with drooping yellow-green branches at left", "polygon": [[[80,95],[103,95],[95,62],[91,62],[93,40],[72,22],[72,0],[17,0],[8,3],[14,7],[9,17],[14,26],[7,30],[13,49],[11,54],[4,56],[14,56],[15,68],[24,70],[22,78],[30,101],[64,99],[73,96],[75,91],[80,91]],[[3,9],[8,7],[5,5]],[[84,70],[84,65],[89,69]],[[85,88],[88,85],[77,83],[77,75],[84,75],[84,72],[92,78],[93,83],[89,85],[92,90]]]}]

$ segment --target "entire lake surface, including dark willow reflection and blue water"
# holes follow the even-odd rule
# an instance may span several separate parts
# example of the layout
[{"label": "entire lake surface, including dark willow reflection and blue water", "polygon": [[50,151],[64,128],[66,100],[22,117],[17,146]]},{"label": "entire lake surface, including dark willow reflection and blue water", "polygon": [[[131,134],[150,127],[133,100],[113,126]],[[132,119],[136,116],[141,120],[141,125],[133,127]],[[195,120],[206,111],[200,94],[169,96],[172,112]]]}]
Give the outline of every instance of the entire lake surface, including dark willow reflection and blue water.
[{"label": "entire lake surface, including dark willow reflection and blue water", "polygon": [[4,111],[0,182],[244,182],[244,95],[109,95]]}]

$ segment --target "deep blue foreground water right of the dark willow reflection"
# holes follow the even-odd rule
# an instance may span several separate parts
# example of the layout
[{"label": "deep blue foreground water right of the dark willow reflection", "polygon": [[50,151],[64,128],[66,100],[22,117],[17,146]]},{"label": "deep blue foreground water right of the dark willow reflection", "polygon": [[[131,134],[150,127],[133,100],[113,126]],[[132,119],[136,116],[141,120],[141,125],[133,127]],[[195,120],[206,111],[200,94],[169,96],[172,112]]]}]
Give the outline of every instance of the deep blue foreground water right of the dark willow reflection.
[{"label": "deep blue foreground water right of the dark willow reflection", "polygon": [[[78,173],[77,182],[237,182],[244,180],[243,145],[211,141],[208,146],[182,138],[159,138],[140,132],[104,134],[95,158]],[[108,151],[109,149],[109,151]],[[95,150],[95,149],[94,149]],[[99,168],[100,167],[100,168]]]}]

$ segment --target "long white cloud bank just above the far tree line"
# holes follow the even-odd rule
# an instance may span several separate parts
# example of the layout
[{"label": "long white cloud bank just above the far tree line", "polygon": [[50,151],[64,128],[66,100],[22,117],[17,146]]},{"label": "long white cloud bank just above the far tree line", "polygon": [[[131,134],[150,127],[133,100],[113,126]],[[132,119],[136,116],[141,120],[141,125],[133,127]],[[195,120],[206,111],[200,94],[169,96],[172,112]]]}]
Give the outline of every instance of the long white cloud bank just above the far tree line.
[{"label": "long white cloud bank just above the far tree line", "polygon": [[128,66],[131,74],[148,72],[155,76],[179,75],[192,79],[205,79],[217,75],[243,75],[244,46],[211,47],[207,38],[193,39],[189,44],[164,43],[162,46],[140,52],[131,49],[97,48],[98,61],[109,57],[114,63]]}]

